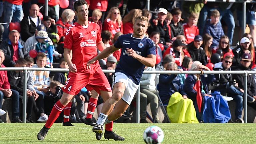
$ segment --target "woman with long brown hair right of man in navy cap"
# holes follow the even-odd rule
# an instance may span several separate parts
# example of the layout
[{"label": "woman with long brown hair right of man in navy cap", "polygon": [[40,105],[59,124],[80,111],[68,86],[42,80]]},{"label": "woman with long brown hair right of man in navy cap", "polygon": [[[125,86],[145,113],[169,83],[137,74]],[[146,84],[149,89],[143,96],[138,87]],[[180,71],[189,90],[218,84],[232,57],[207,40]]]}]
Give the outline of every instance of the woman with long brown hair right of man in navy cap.
[{"label": "woman with long brown hair right of man in navy cap", "polygon": [[213,38],[209,34],[205,34],[203,36],[203,44],[202,48],[205,51],[206,57],[207,57],[207,63],[211,62],[211,56],[212,56],[212,50],[211,50],[211,45],[212,45]]}]

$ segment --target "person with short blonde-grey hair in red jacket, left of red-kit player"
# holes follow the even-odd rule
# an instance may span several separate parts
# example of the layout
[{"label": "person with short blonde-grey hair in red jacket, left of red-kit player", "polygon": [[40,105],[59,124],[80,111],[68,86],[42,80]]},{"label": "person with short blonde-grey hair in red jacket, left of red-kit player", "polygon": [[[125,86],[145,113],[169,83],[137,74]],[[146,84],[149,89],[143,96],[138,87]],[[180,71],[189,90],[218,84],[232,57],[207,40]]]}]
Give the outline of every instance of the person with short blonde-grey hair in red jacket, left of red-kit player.
[{"label": "person with short blonde-grey hair in red jacket, left of red-kit player", "polygon": [[75,12],[71,9],[65,9],[62,14],[61,18],[56,22],[58,35],[60,37],[60,41],[58,43],[57,51],[60,54],[63,54],[63,46],[65,41],[65,33],[67,29],[72,25],[72,21],[75,17]]}]

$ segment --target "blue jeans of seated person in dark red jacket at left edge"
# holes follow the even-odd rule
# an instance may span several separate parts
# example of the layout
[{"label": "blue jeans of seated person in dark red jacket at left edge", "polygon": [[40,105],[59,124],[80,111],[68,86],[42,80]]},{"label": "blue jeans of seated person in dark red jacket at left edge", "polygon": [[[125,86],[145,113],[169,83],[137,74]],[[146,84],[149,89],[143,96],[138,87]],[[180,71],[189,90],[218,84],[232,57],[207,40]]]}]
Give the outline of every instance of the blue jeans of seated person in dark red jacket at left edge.
[{"label": "blue jeans of seated person in dark red jacket at left edge", "polygon": [[[12,118],[15,117],[19,117],[20,116],[20,95],[19,92],[16,90],[11,89],[12,91],[12,95],[11,98],[12,99]],[[1,91],[1,93],[3,94],[3,92]],[[4,98],[7,98],[4,96]]]}]

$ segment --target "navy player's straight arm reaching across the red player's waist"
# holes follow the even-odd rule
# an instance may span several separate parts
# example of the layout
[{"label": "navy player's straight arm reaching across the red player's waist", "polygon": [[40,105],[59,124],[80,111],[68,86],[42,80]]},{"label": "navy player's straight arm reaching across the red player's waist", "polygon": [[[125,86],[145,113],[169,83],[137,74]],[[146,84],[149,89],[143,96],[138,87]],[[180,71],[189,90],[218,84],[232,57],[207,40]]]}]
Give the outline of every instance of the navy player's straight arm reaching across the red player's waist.
[{"label": "navy player's straight arm reaching across the red player's waist", "polygon": [[110,47],[107,47],[101,53],[99,53],[96,57],[90,59],[87,62],[87,65],[93,64],[96,60],[103,59],[103,58],[106,58],[106,57],[110,56],[116,50],[118,50],[118,48],[116,48],[114,45],[111,45]]}]

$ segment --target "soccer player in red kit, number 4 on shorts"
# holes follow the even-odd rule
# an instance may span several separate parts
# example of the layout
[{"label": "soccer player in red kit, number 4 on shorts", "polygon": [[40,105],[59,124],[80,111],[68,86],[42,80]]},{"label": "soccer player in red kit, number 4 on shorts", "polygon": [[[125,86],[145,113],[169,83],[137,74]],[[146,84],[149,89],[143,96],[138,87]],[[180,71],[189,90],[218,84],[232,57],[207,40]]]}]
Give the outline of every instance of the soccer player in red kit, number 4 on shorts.
[{"label": "soccer player in red kit, number 4 on shorts", "polygon": [[[65,87],[62,89],[64,93],[54,105],[46,124],[38,133],[38,140],[44,140],[48,130],[59,117],[63,108],[71,105],[74,95],[83,87],[86,86],[88,90],[94,89],[101,94],[104,101],[112,95],[111,87],[100,68],[99,62],[97,61],[90,66],[87,65],[87,61],[97,55],[97,48],[100,51],[105,49],[101,39],[100,27],[98,24],[88,21],[88,6],[85,0],[76,1],[74,9],[78,20],[67,29],[64,42],[64,58],[69,66],[70,73]],[[111,132],[108,138],[120,140],[120,136],[112,132],[112,127],[113,123],[106,125],[106,130],[108,129]]]}]

